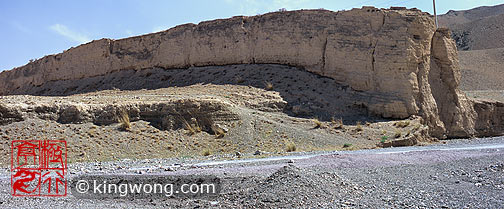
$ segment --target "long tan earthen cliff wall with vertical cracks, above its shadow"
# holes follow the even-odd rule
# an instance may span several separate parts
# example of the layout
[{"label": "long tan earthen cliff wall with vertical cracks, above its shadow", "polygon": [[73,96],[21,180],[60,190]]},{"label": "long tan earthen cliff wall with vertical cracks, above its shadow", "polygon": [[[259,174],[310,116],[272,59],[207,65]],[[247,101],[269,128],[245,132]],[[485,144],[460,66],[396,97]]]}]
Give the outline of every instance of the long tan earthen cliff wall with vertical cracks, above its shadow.
[{"label": "long tan earthen cliff wall with vertical cracks, above its shadow", "polygon": [[121,40],[101,39],[0,73],[0,95],[50,81],[121,70],[283,64],[367,95],[370,114],[420,115],[436,137],[476,134],[473,103],[458,90],[456,47],[418,10],[302,10],[186,24]]}]

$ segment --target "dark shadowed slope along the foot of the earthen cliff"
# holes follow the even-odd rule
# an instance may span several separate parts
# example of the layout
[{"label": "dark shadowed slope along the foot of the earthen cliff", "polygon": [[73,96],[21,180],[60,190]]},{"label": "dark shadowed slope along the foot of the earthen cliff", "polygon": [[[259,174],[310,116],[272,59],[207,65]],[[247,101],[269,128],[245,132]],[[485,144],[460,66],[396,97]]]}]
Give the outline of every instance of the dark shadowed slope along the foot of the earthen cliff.
[{"label": "dark shadowed slope along the foot of the earthen cliff", "polygon": [[27,86],[18,89],[18,92],[41,96],[67,96],[107,89],[158,89],[198,83],[244,85],[277,91],[288,103],[284,112],[290,116],[317,118],[322,121],[342,119],[345,124],[383,121],[380,117],[368,113],[365,104],[369,96],[362,92],[304,69],[274,64],[122,70],[80,80],[52,81],[41,86]]}]

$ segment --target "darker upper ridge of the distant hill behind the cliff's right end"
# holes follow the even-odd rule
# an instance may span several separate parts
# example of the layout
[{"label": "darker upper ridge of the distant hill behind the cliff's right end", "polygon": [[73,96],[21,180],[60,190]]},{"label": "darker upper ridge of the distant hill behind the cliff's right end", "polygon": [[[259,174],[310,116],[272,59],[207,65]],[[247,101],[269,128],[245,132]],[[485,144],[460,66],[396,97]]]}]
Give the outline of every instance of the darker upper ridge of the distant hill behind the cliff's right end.
[{"label": "darker upper ridge of the distant hill behind the cliff's right end", "polygon": [[459,50],[504,47],[504,4],[450,10],[439,16],[439,24],[451,29]]}]

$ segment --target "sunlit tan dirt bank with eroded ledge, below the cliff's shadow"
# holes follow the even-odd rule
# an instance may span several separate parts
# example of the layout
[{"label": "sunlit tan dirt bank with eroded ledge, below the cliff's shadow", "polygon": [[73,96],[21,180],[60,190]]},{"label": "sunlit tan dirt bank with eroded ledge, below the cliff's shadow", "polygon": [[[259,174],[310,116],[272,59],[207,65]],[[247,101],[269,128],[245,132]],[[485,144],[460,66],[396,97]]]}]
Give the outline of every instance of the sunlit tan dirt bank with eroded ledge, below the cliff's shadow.
[{"label": "sunlit tan dirt bank with eroded ledge, below the cliff's shadow", "polygon": [[[322,85],[311,85],[315,84]],[[281,86],[278,84],[276,88],[281,90]],[[276,155],[376,148],[384,144],[382,138],[409,140],[418,136],[418,141],[429,140],[424,137],[426,126],[420,124],[418,117],[405,120],[407,125],[399,127],[393,121],[368,123],[370,117],[365,114],[342,121],[296,116],[295,107],[310,106],[287,108],[283,96],[288,93],[252,86],[195,84],[156,90],[105,90],[66,97],[2,96],[0,147],[5,149],[0,149],[0,154],[9,155],[9,143],[27,137],[66,140],[72,145],[70,162],[236,157],[236,152],[246,155],[256,151]],[[324,93],[316,95],[322,98]],[[335,104],[345,103],[332,105]],[[341,108],[352,111],[352,107]],[[310,116],[313,113],[305,117]],[[360,120],[358,117],[363,120],[358,123],[349,120]],[[399,135],[395,137],[394,133]],[[8,158],[0,159],[0,166],[8,162]]]}]

